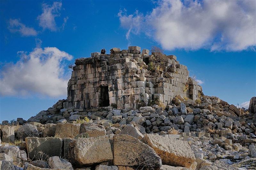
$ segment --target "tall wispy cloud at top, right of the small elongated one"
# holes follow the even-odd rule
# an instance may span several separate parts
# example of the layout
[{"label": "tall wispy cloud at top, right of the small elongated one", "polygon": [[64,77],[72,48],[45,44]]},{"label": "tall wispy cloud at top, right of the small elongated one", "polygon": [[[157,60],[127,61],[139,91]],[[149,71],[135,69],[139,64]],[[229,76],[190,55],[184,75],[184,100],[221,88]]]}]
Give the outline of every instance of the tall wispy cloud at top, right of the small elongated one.
[{"label": "tall wispy cloud at top, right of the small elongated one", "polygon": [[[53,2],[52,5],[43,4],[43,13],[37,17],[39,26],[43,29],[57,31],[58,27],[55,18],[60,16],[61,6],[61,2]],[[67,19],[64,18],[64,25],[66,25]]]}]

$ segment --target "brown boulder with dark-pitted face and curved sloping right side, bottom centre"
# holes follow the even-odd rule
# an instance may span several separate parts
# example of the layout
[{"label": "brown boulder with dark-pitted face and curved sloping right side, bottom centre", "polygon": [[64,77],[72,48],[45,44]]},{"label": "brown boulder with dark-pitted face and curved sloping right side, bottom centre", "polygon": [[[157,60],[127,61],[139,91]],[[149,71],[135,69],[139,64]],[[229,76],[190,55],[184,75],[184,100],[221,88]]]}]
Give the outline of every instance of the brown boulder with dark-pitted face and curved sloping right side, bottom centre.
[{"label": "brown boulder with dark-pitted face and curved sloping right side, bottom centre", "polygon": [[147,144],[129,135],[115,135],[113,144],[114,165],[161,167],[162,160]]}]

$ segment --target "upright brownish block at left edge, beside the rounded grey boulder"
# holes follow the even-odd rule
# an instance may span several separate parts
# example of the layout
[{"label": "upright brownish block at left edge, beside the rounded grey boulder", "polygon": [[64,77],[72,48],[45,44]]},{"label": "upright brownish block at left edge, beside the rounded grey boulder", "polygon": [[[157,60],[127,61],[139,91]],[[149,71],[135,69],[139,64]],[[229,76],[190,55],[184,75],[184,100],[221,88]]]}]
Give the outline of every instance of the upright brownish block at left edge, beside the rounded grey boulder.
[{"label": "upright brownish block at left edge, beside the rounded grey boulder", "polygon": [[[0,126],[0,134],[2,133],[2,142],[14,142],[14,127],[1,125]],[[0,139],[1,140],[1,139]]]}]

